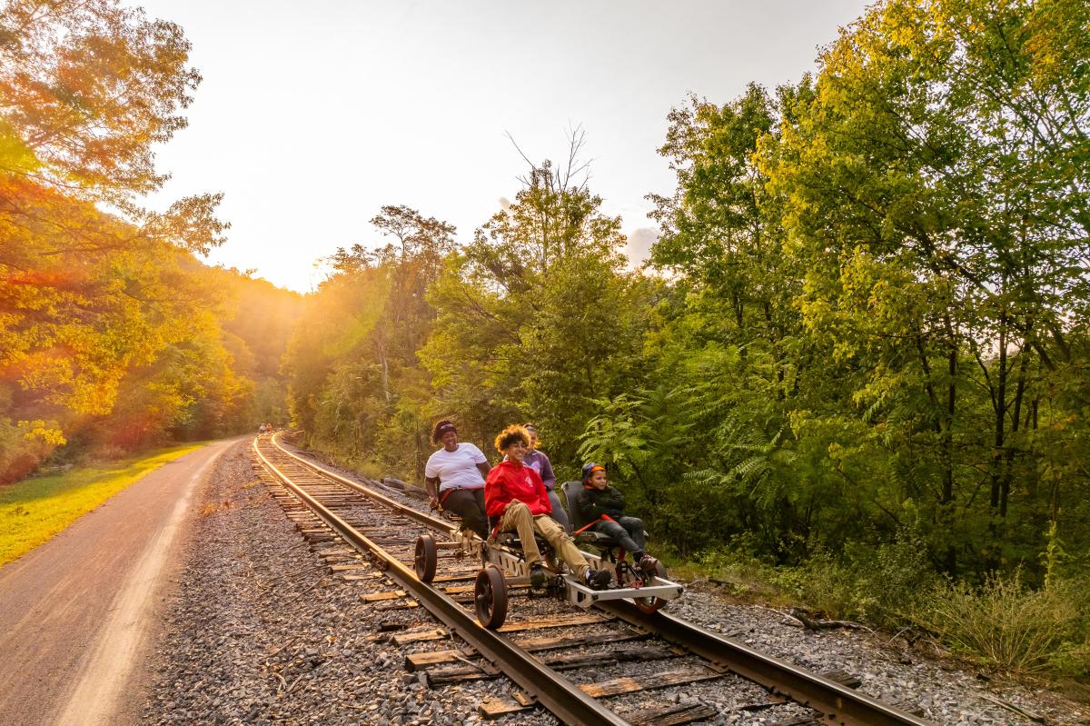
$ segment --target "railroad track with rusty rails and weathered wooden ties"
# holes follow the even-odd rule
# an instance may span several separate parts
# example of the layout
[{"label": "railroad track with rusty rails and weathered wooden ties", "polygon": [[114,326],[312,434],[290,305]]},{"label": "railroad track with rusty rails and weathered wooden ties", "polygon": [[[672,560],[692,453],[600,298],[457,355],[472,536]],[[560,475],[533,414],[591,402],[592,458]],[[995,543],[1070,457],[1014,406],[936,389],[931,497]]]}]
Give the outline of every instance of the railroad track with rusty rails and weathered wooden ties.
[{"label": "railroad track with rusty rails and weathered wooden ties", "polygon": [[[254,439],[255,458],[268,472],[272,496],[332,571],[360,581],[364,590],[375,589],[361,596],[383,613],[423,609],[441,625],[408,627],[393,619],[379,626],[388,631],[379,637],[405,651],[405,669],[433,688],[499,675],[518,687],[511,695],[486,699],[480,707],[486,717],[541,704],[562,723],[586,726],[712,722],[720,710],[699,700],[649,700],[657,689],[705,683],[739,690],[741,712],[785,702],[807,707],[782,726],[930,723],[855,691],[846,674],[814,674],[666,613],[642,613],[626,601],[580,610],[512,588],[512,619],[498,631],[482,628],[473,613],[472,585],[481,562],[443,541],[449,522],[384,493],[377,483],[365,486],[304,459],[279,437]],[[431,583],[422,582],[413,567],[416,537],[425,532],[441,534]],[[450,648],[451,637],[465,645]],[[443,648],[436,650],[435,643]]]}]

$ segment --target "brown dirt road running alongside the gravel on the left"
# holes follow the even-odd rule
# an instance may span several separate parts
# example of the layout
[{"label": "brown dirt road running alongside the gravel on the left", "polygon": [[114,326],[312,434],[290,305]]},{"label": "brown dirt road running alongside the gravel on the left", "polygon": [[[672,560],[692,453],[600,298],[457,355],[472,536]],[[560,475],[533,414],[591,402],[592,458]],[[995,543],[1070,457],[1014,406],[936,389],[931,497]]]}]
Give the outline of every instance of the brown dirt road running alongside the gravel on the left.
[{"label": "brown dirt road running alongside the gravel on the left", "polygon": [[165,464],[0,568],[0,724],[137,723],[157,608],[213,463]]}]

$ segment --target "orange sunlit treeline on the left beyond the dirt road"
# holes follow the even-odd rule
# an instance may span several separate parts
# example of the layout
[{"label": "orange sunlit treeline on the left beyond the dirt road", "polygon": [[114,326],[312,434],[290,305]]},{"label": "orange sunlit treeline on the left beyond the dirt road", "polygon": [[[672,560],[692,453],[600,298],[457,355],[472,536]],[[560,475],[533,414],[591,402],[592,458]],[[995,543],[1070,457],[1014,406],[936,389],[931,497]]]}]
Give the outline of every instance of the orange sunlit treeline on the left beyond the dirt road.
[{"label": "orange sunlit treeline on the left beyond the dirt road", "polygon": [[167,179],[153,144],[185,125],[189,51],[112,0],[0,12],[0,483],[58,447],[215,436],[282,406],[298,297],[197,261],[223,241],[219,195],[137,203]]}]

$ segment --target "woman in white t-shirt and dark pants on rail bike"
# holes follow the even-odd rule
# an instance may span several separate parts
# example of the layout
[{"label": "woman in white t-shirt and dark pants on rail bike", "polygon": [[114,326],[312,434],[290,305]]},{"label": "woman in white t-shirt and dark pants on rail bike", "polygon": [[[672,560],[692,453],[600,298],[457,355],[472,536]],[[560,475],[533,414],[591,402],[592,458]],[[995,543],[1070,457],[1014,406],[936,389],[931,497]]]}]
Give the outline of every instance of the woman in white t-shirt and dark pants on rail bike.
[{"label": "woman in white t-shirt and dark pants on rail bike", "polygon": [[484,513],[484,477],[488,460],[470,443],[458,443],[458,429],[451,421],[439,421],[432,428],[432,443],[443,448],[427,458],[424,486],[432,498],[432,509],[449,509],[482,539],[488,536],[488,517]]}]

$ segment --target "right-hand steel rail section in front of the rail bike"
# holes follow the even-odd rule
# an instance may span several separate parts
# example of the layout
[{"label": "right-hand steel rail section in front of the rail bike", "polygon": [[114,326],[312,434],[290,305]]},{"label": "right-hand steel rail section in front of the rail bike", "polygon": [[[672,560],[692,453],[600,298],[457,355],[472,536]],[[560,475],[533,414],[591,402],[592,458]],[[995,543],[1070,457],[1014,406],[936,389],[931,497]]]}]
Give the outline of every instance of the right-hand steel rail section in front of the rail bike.
[{"label": "right-hand steel rail section in front of the rail bike", "polygon": [[736,640],[663,612],[647,615],[623,601],[596,603],[595,607],[681,645],[773,693],[820,712],[821,721],[825,723],[843,726],[934,726],[929,721],[819,676],[812,670],[765,655]]}]

